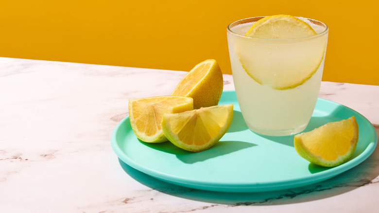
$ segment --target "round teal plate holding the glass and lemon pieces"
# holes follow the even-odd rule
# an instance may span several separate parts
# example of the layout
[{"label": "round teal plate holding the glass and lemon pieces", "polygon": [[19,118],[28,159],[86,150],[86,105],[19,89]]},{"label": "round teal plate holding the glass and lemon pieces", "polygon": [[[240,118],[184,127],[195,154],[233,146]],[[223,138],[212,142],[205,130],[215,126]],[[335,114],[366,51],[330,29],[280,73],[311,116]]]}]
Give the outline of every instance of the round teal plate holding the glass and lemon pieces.
[{"label": "round teal plate holding the glass and lemon pieces", "polygon": [[219,105],[233,104],[233,122],[210,149],[192,153],[171,142],[146,143],[135,136],[129,116],[115,127],[111,143],[129,166],[157,179],[194,189],[219,192],[264,192],[320,182],[360,164],[374,151],[378,137],[374,126],[360,113],[319,98],[304,131],[355,116],[359,141],[353,156],[331,168],[311,164],[293,147],[293,136],[264,136],[246,126],[235,91],[224,91]]}]

